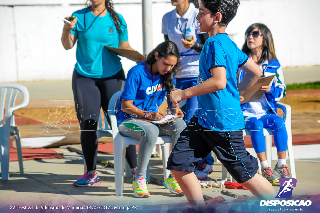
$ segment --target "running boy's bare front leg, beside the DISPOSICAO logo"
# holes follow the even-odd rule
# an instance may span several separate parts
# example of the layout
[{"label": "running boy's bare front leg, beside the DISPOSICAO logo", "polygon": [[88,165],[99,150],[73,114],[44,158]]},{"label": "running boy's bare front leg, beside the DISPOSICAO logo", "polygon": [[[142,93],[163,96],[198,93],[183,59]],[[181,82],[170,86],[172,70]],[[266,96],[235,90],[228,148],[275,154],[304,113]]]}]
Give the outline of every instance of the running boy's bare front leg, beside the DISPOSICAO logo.
[{"label": "running boy's bare front leg, beside the DISPOSICAO logo", "polygon": [[258,173],[241,185],[247,187],[259,200],[274,200],[276,197],[276,191],[271,183]]}]

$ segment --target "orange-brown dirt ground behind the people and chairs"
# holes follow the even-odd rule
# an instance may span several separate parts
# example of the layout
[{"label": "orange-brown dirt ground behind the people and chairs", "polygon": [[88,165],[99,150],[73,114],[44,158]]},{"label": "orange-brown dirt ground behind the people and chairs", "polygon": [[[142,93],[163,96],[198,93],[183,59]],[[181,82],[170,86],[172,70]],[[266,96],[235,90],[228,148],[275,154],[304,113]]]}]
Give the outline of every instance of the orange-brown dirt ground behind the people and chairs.
[{"label": "orange-brown dirt ground behind the people and chairs", "polygon": [[[320,124],[320,89],[288,91],[287,95],[280,102],[289,104],[292,109],[292,134],[319,133]],[[16,115],[26,117],[25,124],[36,120],[41,123],[51,123],[54,116],[49,116],[55,112],[56,108],[22,108],[15,111]],[[71,116],[76,120],[75,108],[70,107]],[[67,113],[62,109],[62,114]],[[279,112],[281,115],[281,112]],[[32,123],[32,122],[31,122]],[[50,124],[49,123],[49,124]]]}]

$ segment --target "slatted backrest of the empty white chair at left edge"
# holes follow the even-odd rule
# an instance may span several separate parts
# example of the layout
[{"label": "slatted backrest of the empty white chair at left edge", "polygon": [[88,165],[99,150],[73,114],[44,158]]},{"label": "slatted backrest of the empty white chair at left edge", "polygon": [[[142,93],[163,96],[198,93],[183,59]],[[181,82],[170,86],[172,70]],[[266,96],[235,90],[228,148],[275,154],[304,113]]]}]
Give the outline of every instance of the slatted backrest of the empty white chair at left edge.
[{"label": "slatted backrest of the empty white chair at left edge", "polygon": [[[8,119],[10,119],[10,125],[15,126],[13,112],[28,105],[29,91],[25,86],[14,83],[2,83],[0,89],[0,126],[9,121]],[[22,93],[23,101],[21,104],[15,105],[19,92]],[[3,122],[3,120],[5,121]]]}]

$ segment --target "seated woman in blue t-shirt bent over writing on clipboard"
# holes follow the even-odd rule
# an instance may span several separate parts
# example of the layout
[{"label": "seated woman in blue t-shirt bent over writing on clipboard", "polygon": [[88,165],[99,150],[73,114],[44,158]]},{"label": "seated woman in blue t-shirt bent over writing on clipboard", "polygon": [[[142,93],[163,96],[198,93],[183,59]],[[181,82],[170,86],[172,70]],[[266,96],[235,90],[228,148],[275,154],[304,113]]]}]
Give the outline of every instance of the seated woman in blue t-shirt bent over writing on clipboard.
[{"label": "seated woman in blue t-shirt bent over writing on clipboard", "polygon": [[[176,119],[165,124],[153,124],[136,118],[149,121],[163,119],[165,114],[158,106],[164,102],[165,97],[169,104],[168,109],[175,115],[183,116],[179,104],[170,102],[169,96],[171,89],[175,88],[175,73],[179,61],[178,47],[172,41],[159,44],[149,53],[147,61],[130,69],[119,99],[116,112],[119,133],[140,140],[138,162],[135,146],[130,146],[133,150],[126,149],[125,156],[132,169],[134,196],[138,198],[150,197],[146,186],[146,171],[158,136],[172,136],[173,147],[185,127],[185,122]],[[138,131],[134,126],[143,130]],[[174,194],[183,195],[173,175],[169,175],[164,181],[164,186]]]}]

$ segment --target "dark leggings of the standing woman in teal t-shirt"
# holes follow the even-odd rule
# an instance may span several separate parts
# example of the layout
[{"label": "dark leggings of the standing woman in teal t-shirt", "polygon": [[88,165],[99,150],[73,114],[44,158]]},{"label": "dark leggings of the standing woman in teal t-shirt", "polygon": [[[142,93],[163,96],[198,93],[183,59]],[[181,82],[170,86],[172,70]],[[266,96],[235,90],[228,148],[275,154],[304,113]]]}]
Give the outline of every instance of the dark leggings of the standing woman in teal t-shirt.
[{"label": "dark leggings of the standing woman in teal t-shirt", "polygon": [[[110,98],[124,88],[124,81],[123,69],[108,78],[88,78],[80,75],[76,70],[73,71],[72,89],[76,102],[76,115],[81,129],[81,147],[88,171],[96,169],[98,154],[96,130],[100,108],[108,112]],[[109,116],[107,119],[110,124]]]}]

